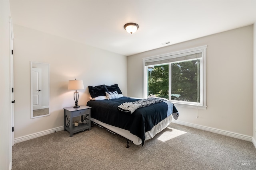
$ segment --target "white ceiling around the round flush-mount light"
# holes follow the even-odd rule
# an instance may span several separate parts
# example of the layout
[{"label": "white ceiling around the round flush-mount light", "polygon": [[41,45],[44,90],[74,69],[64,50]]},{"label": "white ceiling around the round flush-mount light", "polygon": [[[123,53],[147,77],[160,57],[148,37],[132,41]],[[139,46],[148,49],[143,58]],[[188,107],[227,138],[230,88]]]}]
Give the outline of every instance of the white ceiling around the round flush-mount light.
[{"label": "white ceiling around the round flush-mount light", "polygon": [[256,0],[10,0],[10,10],[13,24],[126,56],[256,22]]}]

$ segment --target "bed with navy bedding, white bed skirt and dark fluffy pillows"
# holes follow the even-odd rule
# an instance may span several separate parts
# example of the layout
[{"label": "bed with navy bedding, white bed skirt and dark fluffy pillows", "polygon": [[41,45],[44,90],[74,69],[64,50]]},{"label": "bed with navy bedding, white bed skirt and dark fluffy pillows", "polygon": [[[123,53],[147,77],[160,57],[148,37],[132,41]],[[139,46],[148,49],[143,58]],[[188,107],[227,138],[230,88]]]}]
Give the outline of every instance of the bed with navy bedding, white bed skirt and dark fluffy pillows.
[{"label": "bed with navy bedding, white bed skirt and dark fluffy pillows", "polygon": [[[144,145],[177,119],[176,107],[166,99],[140,99],[122,95],[118,84],[89,86],[91,121],[127,139],[135,145]],[[135,107],[134,107],[135,106]],[[171,116],[172,115],[172,116]]]}]

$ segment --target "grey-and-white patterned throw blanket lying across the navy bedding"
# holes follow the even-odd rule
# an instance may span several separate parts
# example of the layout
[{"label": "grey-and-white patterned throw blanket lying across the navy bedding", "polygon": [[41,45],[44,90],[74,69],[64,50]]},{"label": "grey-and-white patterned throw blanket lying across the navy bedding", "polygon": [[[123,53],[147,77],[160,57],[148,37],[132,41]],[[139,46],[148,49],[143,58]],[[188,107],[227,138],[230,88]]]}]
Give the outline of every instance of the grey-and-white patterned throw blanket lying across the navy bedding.
[{"label": "grey-and-white patterned throw blanket lying across the navy bedding", "polygon": [[120,111],[123,111],[125,113],[130,113],[132,114],[136,109],[140,108],[140,107],[146,107],[146,106],[150,106],[156,103],[160,103],[163,102],[164,98],[147,98],[147,99],[143,99],[143,100],[137,100],[135,102],[126,102],[123,104],[120,104],[117,109]]}]

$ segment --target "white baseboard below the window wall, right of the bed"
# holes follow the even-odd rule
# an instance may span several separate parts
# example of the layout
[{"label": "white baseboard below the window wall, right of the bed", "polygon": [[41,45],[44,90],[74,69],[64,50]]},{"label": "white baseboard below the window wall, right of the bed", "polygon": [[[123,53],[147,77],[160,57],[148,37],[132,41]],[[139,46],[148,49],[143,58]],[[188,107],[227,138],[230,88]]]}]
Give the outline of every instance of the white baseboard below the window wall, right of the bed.
[{"label": "white baseboard below the window wall, right of the bed", "polygon": [[[234,137],[234,138],[237,138],[237,139],[242,139],[242,140],[250,141],[250,142],[252,142],[252,139],[253,139],[251,136],[242,135],[242,134],[239,134],[239,133],[233,133],[233,132],[229,132],[229,131],[223,131],[223,130],[220,130],[220,129],[215,129],[215,128],[206,127],[206,126],[202,126],[202,125],[196,125],[196,124],[193,124],[193,123],[186,123],[186,122],[177,121],[177,120],[172,120],[172,123],[176,123],[176,124],[180,124],[180,125],[184,125],[184,126],[188,126],[188,127],[194,127],[196,129],[201,129],[201,130],[204,130],[204,131],[210,131],[210,132],[213,132],[213,133],[218,133],[220,135]],[[255,144],[254,144],[254,146],[256,146]]]}]

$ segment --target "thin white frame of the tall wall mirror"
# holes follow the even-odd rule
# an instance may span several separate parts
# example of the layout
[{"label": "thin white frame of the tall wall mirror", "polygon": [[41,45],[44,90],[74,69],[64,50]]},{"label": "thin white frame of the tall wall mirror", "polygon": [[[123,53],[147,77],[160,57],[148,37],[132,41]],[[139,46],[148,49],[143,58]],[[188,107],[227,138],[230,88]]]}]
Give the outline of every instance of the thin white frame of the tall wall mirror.
[{"label": "thin white frame of the tall wall mirror", "polygon": [[[39,115],[39,116],[33,116],[33,84],[32,84],[32,68],[33,64],[47,64],[48,65],[48,114],[45,115]],[[37,118],[37,117],[44,117],[50,115],[50,64],[48,63],[41,63],[41,62],[33,62],[30,61],[30,100],[31,100],[31,119]]]}]

